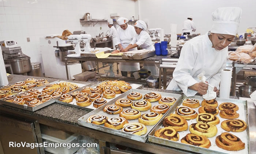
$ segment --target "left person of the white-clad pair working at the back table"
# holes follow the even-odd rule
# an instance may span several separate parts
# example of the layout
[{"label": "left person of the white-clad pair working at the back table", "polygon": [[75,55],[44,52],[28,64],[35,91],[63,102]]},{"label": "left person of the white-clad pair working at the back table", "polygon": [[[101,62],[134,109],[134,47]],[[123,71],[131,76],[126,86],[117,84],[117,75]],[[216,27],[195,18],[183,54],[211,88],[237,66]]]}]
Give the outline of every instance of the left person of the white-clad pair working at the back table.
[{"label": "left person of the white-clad pair working at the back table", "polygon": [[[128,46],[132,46],[136,42],[136,32],[132,25],[127,24],[128,19],[124,17],[120,17],[117,19],[118,25],[120,27],[117,28],[117,44],[121,52],[125,52],[125,48]],[[138,50],[137,47],[129,49],[129,51]],[[122,76],[128,76],[128,72],[131,73],[131,77],[133,77],[133,73],[135,71],[140,70],[139,63],[120,63],[120,70]]]}]

